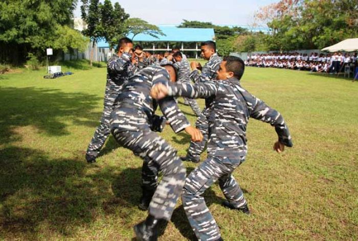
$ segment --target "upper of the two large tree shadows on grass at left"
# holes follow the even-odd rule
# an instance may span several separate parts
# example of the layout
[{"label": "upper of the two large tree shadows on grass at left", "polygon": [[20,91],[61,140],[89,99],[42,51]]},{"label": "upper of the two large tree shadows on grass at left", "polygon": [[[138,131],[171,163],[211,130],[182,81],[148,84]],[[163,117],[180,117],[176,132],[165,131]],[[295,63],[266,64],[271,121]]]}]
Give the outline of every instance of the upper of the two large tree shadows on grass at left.
[{"label": "upper of the two large tree shadows on grass at left", "polygon": [[16,127],[34,126],[48,135],[67,135],[67,124],[94,127],[92,110],[100,100],[97,95],[86,93],[65,93],[58,89],[14,88],[1,89],[0,95],[0,144],[19,140]]}]

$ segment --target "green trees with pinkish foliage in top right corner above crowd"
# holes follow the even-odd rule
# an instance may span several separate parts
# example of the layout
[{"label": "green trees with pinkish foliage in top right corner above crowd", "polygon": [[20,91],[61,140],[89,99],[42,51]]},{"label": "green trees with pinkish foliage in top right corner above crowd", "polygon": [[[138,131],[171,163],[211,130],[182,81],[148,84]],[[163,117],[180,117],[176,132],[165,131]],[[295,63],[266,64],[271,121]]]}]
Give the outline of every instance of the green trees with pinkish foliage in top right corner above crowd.
[{"label": "green trees with pinkish foliage in top right corner above crowd", "polygon": [[281,0],[256,17],[272,29],[270,50],[321,49],[358,36],[358,2],[354,0]]}]

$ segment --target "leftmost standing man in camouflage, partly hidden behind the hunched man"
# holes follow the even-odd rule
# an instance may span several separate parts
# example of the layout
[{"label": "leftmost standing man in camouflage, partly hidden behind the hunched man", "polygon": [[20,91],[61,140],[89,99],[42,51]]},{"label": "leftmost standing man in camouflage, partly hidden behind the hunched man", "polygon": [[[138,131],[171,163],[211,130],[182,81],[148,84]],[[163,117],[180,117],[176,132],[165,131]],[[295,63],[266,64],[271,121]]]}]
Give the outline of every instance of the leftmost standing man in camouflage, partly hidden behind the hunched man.
[{"label": "leftmost standing man in camouflage, partly hidden behind the hunched man", "polygon": [[109,114],[113,110],[114,102],[123,83],[128,81],[129,76],[133,74],[133,65],[131,64],[132,41],[129,38],[121,38],[118,46],[118,54],[111,57],[107,63],[104,109],[100,119],[100,125],[97,127],[87,148],[85,158],[89,163],[96,162],[96,158],[110,134]]}]

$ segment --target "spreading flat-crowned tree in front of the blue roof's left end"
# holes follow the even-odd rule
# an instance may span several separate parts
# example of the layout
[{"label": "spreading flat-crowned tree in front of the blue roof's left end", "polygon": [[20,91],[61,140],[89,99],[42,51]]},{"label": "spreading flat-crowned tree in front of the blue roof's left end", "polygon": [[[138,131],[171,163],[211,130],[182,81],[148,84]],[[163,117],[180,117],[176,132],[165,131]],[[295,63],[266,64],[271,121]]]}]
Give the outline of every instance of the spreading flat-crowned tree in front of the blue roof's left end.
[{"label": "spreading flat-crowned tree in front of the blue roof's left end", "polygon": [[164,35],[157,26],[151,25],[147,21],[140,18],[128,18],[125,24],[126,35],[132,34],[132,39],[138,34],[148,34],[154,38],[158,38],[158,35]]}]

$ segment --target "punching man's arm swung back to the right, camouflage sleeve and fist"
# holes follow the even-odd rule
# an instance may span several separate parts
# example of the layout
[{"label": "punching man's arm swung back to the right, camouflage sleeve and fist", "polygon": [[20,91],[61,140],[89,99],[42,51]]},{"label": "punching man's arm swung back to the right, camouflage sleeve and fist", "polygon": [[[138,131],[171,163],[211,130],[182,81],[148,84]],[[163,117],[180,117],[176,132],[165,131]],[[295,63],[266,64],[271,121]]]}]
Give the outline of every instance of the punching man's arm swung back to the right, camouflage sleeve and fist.
[{"label": "punching man's arm swung back to the right, camouflage sleeve and fist", "polygon": [[277,152],[281,152],[284,149],[283,146],[280,146],[280,143],[287,147],[293,146],[288,127],[282,115],[277,110],[267,106],[263,101],[256,97],[253,97],[252,103],[248,103],[248,105],[252,106],[251,117],[262,122],[270,123],[271,126],[275,127],[279,142],[275,143],[274,146],[274,149]]}]

